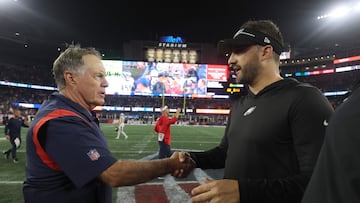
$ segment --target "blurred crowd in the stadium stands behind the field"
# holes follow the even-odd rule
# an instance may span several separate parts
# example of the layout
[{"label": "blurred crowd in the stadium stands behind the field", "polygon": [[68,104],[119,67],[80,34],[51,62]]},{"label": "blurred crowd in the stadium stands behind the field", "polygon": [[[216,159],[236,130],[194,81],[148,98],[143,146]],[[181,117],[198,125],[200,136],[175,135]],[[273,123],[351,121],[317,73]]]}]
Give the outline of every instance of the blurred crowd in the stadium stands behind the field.
[{"label": "blurred crowd in the stadium stands behind the field", "polygon": [[[36,84],[55,87],[51,67],[23,66],[0,64],[0,80],[25,84]],[[322,92],[349,91],[352,85],[360,78],[360,70],[333,74],[301,76],[296,79],[308,82],[318,87]],[[0,114],[3,117],[11,114],[14,102],[41,104],[53,91],[31,89],[23,87],[0,86]],[[231,98],[236,97],[232,95]],[[342,102],[344,95],[328,96],[334,108]],[[126,96],[108,95],[105,106],[117,107],[161,107],[163,104],[170,108],[192,109],[179,119],[183,124],[214,124],[223,125],[227,122],[227,114],[197,114],[196,109],[230,109],[233,99],[207,99],[159,96]],[[34,115],[36,109],[22,108],[24,115]],[[152,124],[158,112],[124,112],[129,123]],[[99,117],[103,122],[117,119],[120,112],[101,111]]]}]

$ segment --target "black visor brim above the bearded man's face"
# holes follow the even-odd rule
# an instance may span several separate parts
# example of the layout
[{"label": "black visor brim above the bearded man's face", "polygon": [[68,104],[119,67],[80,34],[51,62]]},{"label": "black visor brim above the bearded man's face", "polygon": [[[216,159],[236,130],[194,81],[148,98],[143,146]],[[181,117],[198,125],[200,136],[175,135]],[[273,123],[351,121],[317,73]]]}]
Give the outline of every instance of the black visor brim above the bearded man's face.
[{"label": "black visor brim above the bearded man's face", "polygon": [[217,44],[217,50],[221,54],[229,54],[236,49],[254,45],[256,43],[248,39],[224,39]]}]

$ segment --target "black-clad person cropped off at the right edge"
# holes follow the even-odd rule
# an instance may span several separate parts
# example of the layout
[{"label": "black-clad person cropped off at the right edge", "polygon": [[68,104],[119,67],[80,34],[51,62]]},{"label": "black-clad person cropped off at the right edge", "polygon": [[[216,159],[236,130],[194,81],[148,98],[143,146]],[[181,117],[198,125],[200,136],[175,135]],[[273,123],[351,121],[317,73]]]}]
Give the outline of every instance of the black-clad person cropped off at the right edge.
[{"label": "black-clad person cropped off at the right edge", "polygon": [[302,203],[360,202],[359,82],[331,117]]}]

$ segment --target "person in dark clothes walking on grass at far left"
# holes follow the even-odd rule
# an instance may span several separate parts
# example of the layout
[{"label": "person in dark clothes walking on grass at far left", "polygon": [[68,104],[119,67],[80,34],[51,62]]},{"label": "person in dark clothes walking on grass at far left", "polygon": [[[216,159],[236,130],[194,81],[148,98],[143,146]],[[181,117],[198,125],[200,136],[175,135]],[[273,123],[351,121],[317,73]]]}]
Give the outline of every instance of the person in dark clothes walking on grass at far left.
[{"label": "person in dark clothes walking on grass at far left", "polygon": [[21,145],[21,127],[28,128],[29,126],[24,123],[20,110],[15,109],[14,117],[10,118],[5,125],[5,137],[10,141],[12,147],[3,152],[5,159],[9,159],[11,153],[14,163],[19,162],[16,157],[16,150],[20,148]]}]

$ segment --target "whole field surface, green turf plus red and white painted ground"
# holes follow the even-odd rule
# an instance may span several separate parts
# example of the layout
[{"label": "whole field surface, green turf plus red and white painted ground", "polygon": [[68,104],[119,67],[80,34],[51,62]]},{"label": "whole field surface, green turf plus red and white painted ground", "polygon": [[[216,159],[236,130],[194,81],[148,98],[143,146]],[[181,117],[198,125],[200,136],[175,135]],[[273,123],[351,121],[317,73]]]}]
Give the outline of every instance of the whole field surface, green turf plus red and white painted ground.
[{"label": "whole field surface, green turf plus red and white painted ground", "polygon": [[[119,159],[154,159],[158,152],[156,134],[153,125],[126,125],[125,132],[129,136],[115,139],[115,125],[102,124],[101,128],[108,140],[113,155]],[[223,126],[177,126],[171,127],[173,150],[202,151],[216,146],[224,133]],[[22,129],[22,139],[25,143],[26,128]],[[1,151],[11,147],[4,139],[4,126],[0,126]],[[11,159],[0,158],[0,203],[24,202],[22,197],[22,182],[24,180],[25,146],[17,150],[19,163],[12,163]],[[113,202],[188,202],[189,192],[203,181],[205,177],[221,178],[222,170],[194,170],[186,179],[174,179],[165,176],[145,184],[132,187],[120,187],[113,190]],[[159,195],[158,195],[159,194]],[[162,195],[160,195],[162,194]],[[152,195],[152,196],[151,196]],[[158,195],[158,196],[157,196]],[[126,197],[126,198],[125,198]],[[146,197],[146,198],[145,198]],[[159,199],[160,198],[160,199]],[[161,199],[162,198],[162,199]],[[175,199],[174,199],[175,198]]]}]

